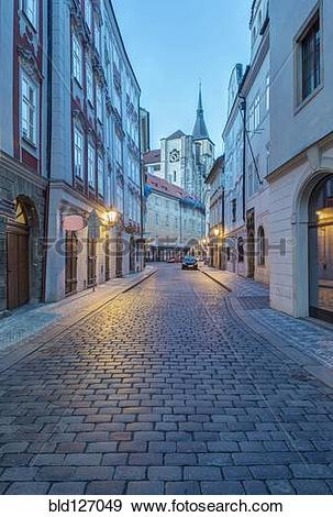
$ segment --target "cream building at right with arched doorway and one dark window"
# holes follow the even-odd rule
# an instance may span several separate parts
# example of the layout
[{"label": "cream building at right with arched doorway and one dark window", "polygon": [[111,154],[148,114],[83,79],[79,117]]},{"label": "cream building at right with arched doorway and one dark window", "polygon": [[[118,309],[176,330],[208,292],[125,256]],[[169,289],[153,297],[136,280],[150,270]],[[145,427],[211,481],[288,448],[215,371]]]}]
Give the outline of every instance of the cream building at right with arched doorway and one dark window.
[{"label": "cream building at right with arched doorway and one dark window", "polygon": [[270,2],[270,302],[333,321],[330,0]]}]

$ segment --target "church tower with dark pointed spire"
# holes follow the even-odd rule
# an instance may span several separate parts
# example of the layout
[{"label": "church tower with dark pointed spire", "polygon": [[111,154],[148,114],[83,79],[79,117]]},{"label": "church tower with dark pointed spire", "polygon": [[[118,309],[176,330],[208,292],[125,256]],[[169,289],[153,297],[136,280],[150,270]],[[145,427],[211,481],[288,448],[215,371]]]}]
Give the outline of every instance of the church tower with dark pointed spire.
[{"label": "church tower with dark pointed spire", "polygon": [[209,132],[204,122],[201,82],[199,86],[199,100],[197,109],[197,119],[192,131],[193,154],[195,154],[195,177],[193,191],[197,196],[204,199],[204,179],[208,176],[214,161],[214,144],[210,140]]}]

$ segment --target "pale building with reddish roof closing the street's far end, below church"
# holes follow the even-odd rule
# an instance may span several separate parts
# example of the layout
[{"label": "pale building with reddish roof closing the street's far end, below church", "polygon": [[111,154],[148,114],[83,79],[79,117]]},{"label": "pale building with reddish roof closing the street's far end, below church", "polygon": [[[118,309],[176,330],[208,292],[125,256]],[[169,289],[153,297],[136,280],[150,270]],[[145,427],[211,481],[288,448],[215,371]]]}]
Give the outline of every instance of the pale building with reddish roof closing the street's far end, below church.
[{"label": "pale building with reddish roof closing the street's far end, below church", "polygon": [[146,258],[167,261],[197,251],[203,234],[203,204],[158,176],[146,179]]}]

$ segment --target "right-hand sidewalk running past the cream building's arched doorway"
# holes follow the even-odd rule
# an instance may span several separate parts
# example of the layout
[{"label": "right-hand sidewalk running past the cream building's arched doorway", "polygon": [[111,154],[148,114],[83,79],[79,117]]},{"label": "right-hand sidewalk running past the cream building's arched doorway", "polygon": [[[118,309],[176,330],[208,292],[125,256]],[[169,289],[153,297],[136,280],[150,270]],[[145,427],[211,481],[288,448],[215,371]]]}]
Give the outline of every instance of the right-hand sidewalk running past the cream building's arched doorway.
[{"label": "right-hand sidewalk running past the cream building's arched doorway", "polygon": [[201,272],[230,294],[229,309],[259,338],[333,387],[333,331],[308,319],[269,308],[267,286],[234,273],[203,266]]}]

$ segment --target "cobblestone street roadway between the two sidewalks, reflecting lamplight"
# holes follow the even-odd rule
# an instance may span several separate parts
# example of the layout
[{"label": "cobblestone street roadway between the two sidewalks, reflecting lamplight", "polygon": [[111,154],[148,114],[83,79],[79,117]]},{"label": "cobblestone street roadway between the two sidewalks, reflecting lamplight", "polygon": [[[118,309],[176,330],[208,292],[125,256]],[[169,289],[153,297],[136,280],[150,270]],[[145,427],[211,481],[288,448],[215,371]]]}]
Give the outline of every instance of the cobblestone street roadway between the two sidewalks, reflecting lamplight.
[{"label": "cobblestone street roadway between the two sidewalks, reflecting lamplight", "polygon": [[179,265],[0,374],[0,493],[332,494],[333,391]]}]

